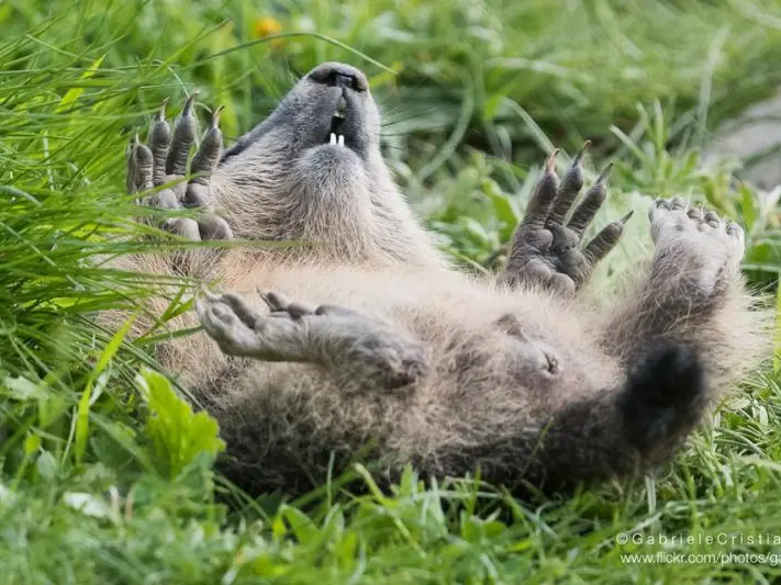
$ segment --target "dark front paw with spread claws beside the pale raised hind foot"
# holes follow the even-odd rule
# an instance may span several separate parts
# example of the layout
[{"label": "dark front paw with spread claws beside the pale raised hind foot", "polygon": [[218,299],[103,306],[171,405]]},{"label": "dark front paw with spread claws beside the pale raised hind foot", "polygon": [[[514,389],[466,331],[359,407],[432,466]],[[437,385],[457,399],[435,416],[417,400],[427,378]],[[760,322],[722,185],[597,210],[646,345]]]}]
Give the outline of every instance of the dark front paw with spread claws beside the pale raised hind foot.
[{"label": "dark front paw with spread claws beside the pale raised hind foot", "polygon": [[560,294],[572,294],[588,281],[596,263],[623,235],[632,212],[607,224],[591,241],[580,246],[583,233],[605,200],[610,166],[567,220],[583,187],[582,159],[588,145],[585,143],[574,157],[560,184],[554,171],[558,150],[548,158],[526,215],[515,230],[501,274],[511,286],[542,284]]}]

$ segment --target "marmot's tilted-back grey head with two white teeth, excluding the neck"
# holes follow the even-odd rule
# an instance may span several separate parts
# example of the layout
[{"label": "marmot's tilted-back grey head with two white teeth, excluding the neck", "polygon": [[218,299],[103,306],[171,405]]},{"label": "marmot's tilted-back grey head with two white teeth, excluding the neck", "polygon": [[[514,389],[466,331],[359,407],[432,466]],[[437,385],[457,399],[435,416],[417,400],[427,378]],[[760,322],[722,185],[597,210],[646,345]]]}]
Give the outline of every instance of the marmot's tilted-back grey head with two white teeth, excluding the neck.
[{"label": "marmot's tilted-back grey head with two white teeth, excluding the neck", "polygon": [[365,229],[372,200],[394,189],[379,133],[366,76],[349,65],[324,63],[225,151],[220,175],[243,191],[245,207],[257,201],[266,211],[278,209],[279,217],[266,223],[284,222],[282,235],[328,239],[312,233],[331,223],[324,213],[332,210],[342,222],[355,218]]}]

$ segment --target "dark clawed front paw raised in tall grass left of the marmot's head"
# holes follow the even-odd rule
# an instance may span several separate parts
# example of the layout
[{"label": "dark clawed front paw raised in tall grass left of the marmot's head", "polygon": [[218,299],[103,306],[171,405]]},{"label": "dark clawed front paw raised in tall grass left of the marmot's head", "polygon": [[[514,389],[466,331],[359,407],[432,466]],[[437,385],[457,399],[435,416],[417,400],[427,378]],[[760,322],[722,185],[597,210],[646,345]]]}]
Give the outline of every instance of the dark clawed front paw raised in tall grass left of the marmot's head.
[{"label": "dark clawed front paw raised in tall grass left of the marmot's head", "polygon": [[225,220],[209,210],[209,180],[222,148],[219,126],[222,108],[212,113],[210,127],[190,162],[192,179],[182,180],[188,175],[188,159],[197,134],[192,113],[196,95],[190,95],[185,103],[172,134],[166,121],[167,102],[164,102],[149,127],[148,146],[134,138],[127,156],[127,189],[138,193],[171,183],[153,192],[142,203],[163,210],[199,207],[202,213],[197,220],[169,220],[165,224],[167,229],[193,240],[232,239],[233,233]]}]

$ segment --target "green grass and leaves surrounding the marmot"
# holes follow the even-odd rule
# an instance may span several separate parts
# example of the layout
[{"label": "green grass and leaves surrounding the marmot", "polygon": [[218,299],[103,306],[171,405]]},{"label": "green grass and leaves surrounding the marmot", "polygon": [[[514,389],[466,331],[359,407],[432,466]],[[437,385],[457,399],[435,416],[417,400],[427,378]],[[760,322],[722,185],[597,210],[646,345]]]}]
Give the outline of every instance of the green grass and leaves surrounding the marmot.
[{"label": "green grass and leaves surrounding the marmot", "polygon": [[[203,103],[226,105],[235,136],[290,87],[291,71],[332,58],[370,75],[387,156],[466,267],[486,270],[501,252],[545,151],[571,153],[589,137],[594,169],[617,162],[600,222],[651,196],[706,202],[747,226],[746,273],[773,294],[777,202],[761,204],[727,165],[703,170],[698,148],[781,81],[781,3],[274,7],[0,4],[0,583],[777,580],[772,364],[672,464],[635,484],[520,502],[475,479],[424,488],[409,473],[381,494],[359,469],[368,495],[334,483],[282,503],[253,500],[216,475],[214,424],[155,373],[149,340],[123,342],[91,317],[137,307],[159,284],[104,261],[142,246],[123,150],[163,98],[197,86]],[[317,36],[256,43],[257,19],[270,15],[282,33]],[[598,274],[605,283],[649,247],[641,213],[632,227]],[[171,299],[169,314],[186,308]],[[694,542],[616,544],[624,532]],[[658,551],[716,556],[622,559]]]}]

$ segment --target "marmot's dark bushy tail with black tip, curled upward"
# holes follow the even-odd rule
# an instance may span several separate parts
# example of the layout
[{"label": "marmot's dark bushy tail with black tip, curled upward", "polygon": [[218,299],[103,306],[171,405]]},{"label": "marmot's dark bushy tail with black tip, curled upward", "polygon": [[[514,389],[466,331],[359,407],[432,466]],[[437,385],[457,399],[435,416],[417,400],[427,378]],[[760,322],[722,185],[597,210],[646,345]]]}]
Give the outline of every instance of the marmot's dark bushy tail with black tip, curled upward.
[{"label": "marmot's dark bushy tail with black tip, curled upward", "polygon": [[620,390],[568,405],[543,430],[536,464],[545,491],[631,475],[670,459],[711,394],[688,346],[655,347]]}]

